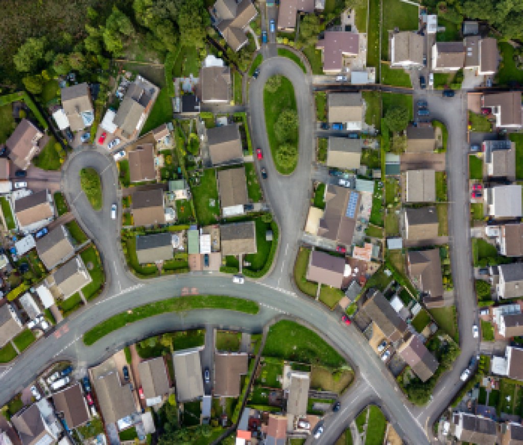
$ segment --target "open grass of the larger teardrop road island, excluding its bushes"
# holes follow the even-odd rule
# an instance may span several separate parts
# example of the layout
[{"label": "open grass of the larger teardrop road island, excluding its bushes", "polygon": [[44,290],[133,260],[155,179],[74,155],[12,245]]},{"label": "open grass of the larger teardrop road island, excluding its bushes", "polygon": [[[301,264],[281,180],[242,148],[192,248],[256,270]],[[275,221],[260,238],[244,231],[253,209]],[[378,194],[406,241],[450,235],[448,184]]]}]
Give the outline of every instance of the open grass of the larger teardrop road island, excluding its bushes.
[{"label": "open grass of the larger teardrop road island, excluding its bushes", "polygon": [[[282,175],[289,175],[294,171],[298,164],[298,159],[291,166],[281,165],[278,162],[276,153],[278,151],[279,143],[276,139],[274,125],[278,120],[283,110],[296,111],[296,98],[294,96],[294,88],[291,81],[287,77],[281,77],[281,85],[276,92],[271,93],[267,89],[264,90],[264,106],[265,106],[265,123],[267,125],[267,136],[269,138],[270,152],[274,161],[275,167]],[[291,144],[298,146],[298,129],[296,130]]]}]

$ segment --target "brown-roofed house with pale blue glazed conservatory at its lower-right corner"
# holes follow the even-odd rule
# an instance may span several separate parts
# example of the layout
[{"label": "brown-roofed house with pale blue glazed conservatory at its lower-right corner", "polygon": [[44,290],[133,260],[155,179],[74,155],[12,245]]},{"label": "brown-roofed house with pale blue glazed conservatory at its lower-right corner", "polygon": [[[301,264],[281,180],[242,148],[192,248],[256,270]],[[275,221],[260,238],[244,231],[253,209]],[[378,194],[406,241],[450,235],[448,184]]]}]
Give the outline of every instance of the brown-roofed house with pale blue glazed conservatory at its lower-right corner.
[{"label": "brown-roofed house with pale blue glazed conservatory at its lower-right corner", "polygon": [[61,89],[62,108],[71,131],[90,127],[94,121],[94,108],[87,83]]}]

